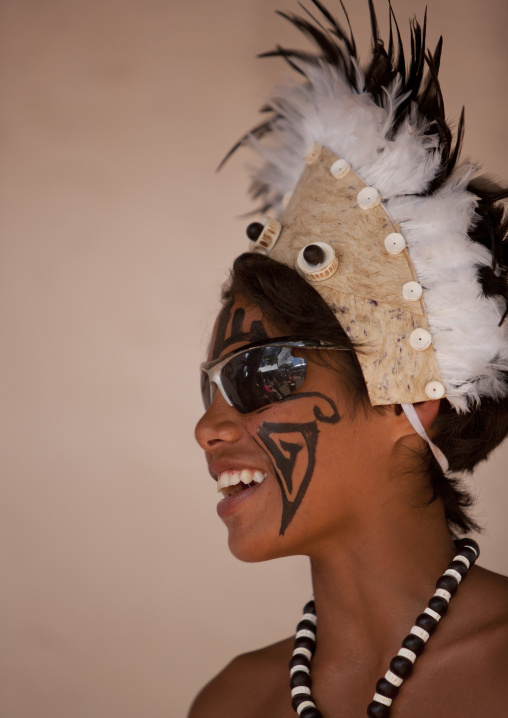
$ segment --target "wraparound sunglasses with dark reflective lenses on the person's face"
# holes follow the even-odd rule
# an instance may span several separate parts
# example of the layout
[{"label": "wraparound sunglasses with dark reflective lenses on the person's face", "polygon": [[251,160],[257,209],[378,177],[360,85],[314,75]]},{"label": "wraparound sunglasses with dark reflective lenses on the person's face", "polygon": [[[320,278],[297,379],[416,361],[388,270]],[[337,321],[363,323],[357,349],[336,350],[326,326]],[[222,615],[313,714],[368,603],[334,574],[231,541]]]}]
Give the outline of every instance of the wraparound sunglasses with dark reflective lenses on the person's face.
[{"label": "wraparound sunglasses with dark reflective lenses on the person's face", "polygon": [[326,342],[281,337],[271,342],[247,344],[225,357],[201,364],[201,394],[205,409],[217,389],[241,414],[285,399],[299,389],[307,374],[307,359],[293,349],[348,351]]}]

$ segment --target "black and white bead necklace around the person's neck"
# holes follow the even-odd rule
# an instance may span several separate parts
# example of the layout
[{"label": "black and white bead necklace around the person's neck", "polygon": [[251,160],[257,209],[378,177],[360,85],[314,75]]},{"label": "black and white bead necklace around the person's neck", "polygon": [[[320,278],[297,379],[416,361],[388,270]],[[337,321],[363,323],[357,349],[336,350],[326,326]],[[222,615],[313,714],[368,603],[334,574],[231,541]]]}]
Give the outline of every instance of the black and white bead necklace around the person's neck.
[{"label": "black and white bead necklace around the person's neck", "polygon": [[[460,539],[455,541],[455,545],[457,555],[437,580],[436,592],[427,608],[420,613],[402,641],[400,651],[390,661],[390,669],[376,683],[374,698],[367,707],[369,718],[388,718],[390,706],[402,682],[411,675],[414,662],[448,610],[448,603],[459,583],[480,555],[478,544],[473,539]],[[305,604],[303,616],[296,627],[293,656],[289,662],[291,705],[300,718],[322,718],[311,693],[310,664],[316,649],[316,625],[316,608],[312,600]]]}]

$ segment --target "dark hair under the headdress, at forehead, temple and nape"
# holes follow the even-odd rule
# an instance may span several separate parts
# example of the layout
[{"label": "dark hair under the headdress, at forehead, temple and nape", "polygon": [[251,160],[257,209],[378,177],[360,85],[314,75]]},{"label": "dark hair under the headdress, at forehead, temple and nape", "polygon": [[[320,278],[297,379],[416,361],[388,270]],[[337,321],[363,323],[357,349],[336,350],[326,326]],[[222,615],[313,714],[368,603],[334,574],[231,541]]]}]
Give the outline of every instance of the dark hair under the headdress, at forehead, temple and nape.
[{"label": "dark hair under the headdress, at forehead, temple and nape", "polygon": [[[324,299],[290,267],[260,254],[242,254],[235,261],[229,283],[224,287],[224,302],[241,295],[256,304],[268,321],[291,335],[339,343],[353,349],[353,344]],[[351,411],[385,411],[372,407],[356,351],[339,352],[339,379],[351,399]],[[360,348],[361,351],[361,348]],[[326,352],[322,361],[334,362],[334,352]],[[337,368],[337,359],[335,359]],[[508,375],[506,376],[508,383]],[[402,411],[396,406],[396,411]],[[462,473],[472,472],[508,434],[508,397],[500,401],[484,398],[467,414],[458,414],[442,401],[432,425],[432,439],[444,452],[450,465],[445,477],[427,444],[417,455],[417,469],[430,481],[430,502],[441,499],[452,531],[467,533],[479,530],[469,515],[471,495],[462,485]],[[450,474],[452,474],[450,476]]]}]

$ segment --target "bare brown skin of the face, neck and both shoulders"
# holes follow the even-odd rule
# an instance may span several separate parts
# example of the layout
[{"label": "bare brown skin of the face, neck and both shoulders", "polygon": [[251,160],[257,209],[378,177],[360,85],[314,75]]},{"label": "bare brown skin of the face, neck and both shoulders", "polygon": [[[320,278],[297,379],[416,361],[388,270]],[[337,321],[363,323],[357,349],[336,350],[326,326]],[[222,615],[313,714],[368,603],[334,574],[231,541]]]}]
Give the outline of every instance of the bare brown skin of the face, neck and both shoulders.
[{"label": "bare brown skin of the face, neck and both shoulders", "polygon": [[[244,334],[252,326],[259,332],[261,325],[270,337],[284,334],[241,298],[235,308],[245,312],[236,315],[237,331],[242,317]],[[234,339],[231,325],[221,331]],[[222,355],[248,341],[231,341],[222,350],[221,342],[214,343]],[[260,437],[267,424],[307,425],[314,399],[240,414],[217,392],[196,437],[212,476],[242,467],[267,473],[248,499],[222,517],[230,550],[244,561],[309,556],[318,615],[313,696],[324,718],[360,718],[454,547],[443,506],[427,505],[426,477],[403,471],[407,447],[419,441],[405,416],[389,409],[353,417],[336,374],[313,362],[298,391],[326,396],[340,420],[319,424],[312,476],[283,533],[287,486]],[[417,411],[429,428],[437,402],[419,404]],[[292,464],[293,492],[308,477],[310,453],[302,448]],[[295,716],[288,685],[292,640],[233,660],[201,691],[189,718]],[[507,675],[508,578],[475,566],[403,684],[391,716],[508,715]]]}]

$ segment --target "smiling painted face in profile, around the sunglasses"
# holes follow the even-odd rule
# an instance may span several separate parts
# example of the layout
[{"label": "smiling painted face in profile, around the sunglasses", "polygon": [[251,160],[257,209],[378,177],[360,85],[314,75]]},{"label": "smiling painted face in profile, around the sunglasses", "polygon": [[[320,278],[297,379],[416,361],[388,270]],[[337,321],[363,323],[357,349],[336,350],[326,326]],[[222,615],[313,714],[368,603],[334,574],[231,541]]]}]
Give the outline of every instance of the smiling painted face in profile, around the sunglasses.
[{"label": "smiling painted face in profile, around the sunglasses", "polygon": [[[236,297],[217,318],[210,359],[284,334]],[[309,554],[335,541],[366,520],[378,469],[390,461],[391,422],[362,410],[353,417],[337,372],[306,360],[303,384],[282,400],[240,413],[216,391],[196,426],[210,474],[222,487],[217,510],[230,549],[242,560]]]}]

